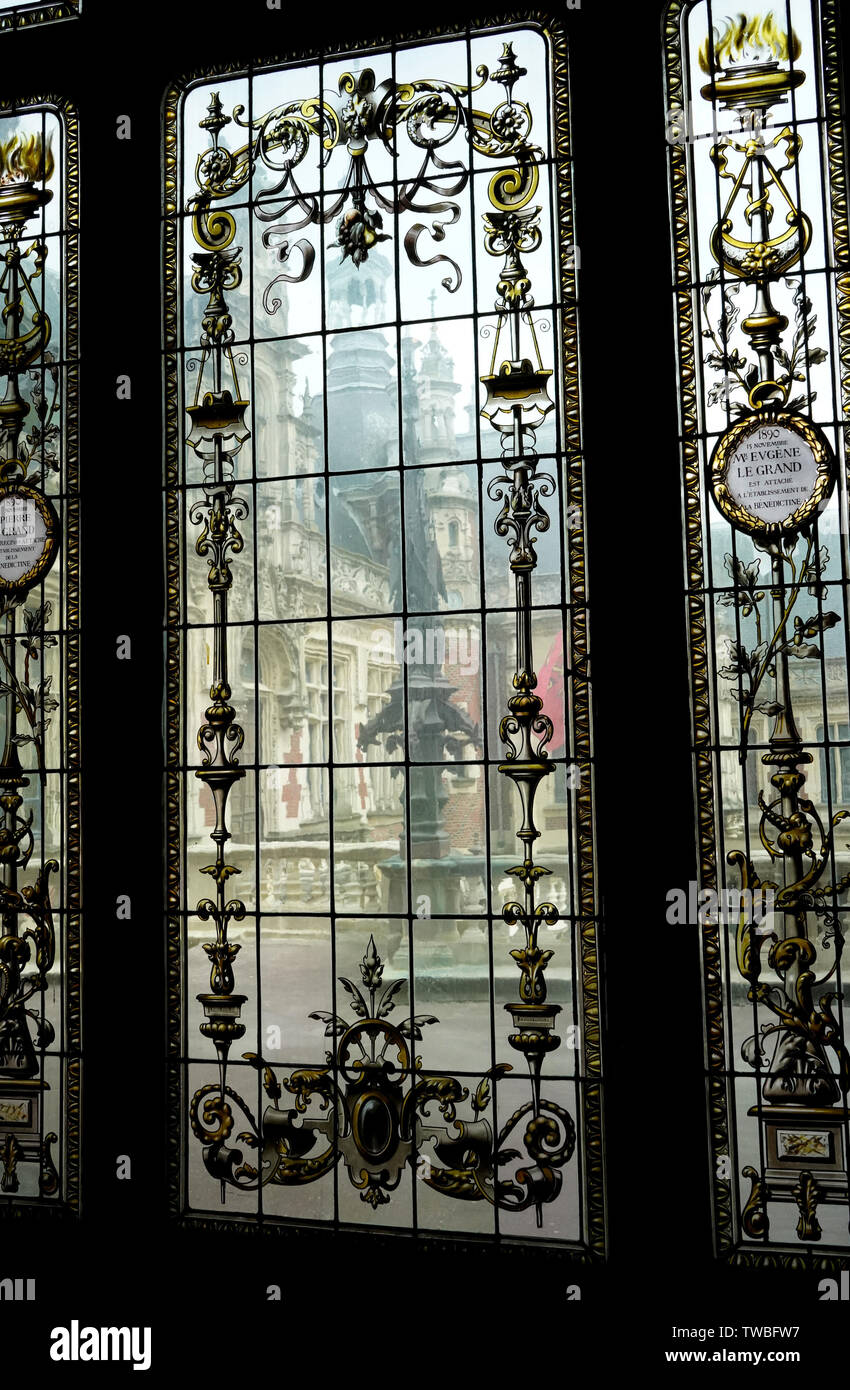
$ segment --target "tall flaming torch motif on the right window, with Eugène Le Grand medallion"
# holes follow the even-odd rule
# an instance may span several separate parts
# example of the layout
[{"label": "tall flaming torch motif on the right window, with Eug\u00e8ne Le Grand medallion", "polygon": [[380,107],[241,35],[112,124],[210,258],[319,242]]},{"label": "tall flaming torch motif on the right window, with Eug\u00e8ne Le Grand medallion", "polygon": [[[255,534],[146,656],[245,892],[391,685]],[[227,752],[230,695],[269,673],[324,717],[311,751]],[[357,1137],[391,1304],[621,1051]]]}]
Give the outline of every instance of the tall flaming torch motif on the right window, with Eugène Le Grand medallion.
[{"label": "tall flaming torch motif on the right window, with Eug\u00e8ne Le Grand medallion", "polygon": [[[810,920],[814,915],[828,915],[826,898],[840,892],[850,876],[832,888],[819,884],[831,862],[835,826],[847,812],[839,812],[832,824],[825,826],[806,796],[804,767],[812,758],[803,745],[794,719],[789,677],[789,656],[821,656],[818,646],[803,644],[803,634],[814,637],[840,621],[836,613],[797,616],[793,619],[793,635],[789,635],[803,584],[819,584],[814,523],[836,477],[835,457],[822,431],[799,413],[800,402],[789,400],[797,371],[789,367],[789,361],[797,349],[793,349],[792,359],[783,350],[789,320],[772,302],[778,284],[801,260],[811,236],[808,218],[782,181],[782,174],[793,168],[799,158],[801,138],[788,125],[772,140],[765,135],[768,113],[806,81],[806,72],[794,67],[799,56],[797,36],[793,31],[783,33],[772,14],[729,19],[725,31],[721,35],[715,31],[699,54],[703,71],[710,75],[701,95],[735,111],[740,121],[739,136],[724,133],[711,149],[718,181],[729,179],[732,183],[721,218],[711,232],[711,252],[719,265],[721,286],[724,277],[732,277],[754,289],[753,307],[740,324],[754,354],[749,368],[738,349],[729,348],[728,327],[722,331],[719,361],[726,370],[736,371],[747,400],[732,407],[738,411],[738,421],[715,446],[711,485],[726,520],[753,538],[756,549],[769,557],[771,567],[769,600],[765,600],[764,592],[754,592],[761,589],[761,584],[756,582],[760,562],[749,569],[740,562],[735,567],[732,562],[733,603],[740,609],[742,620],[754,613],[758,634],[765,624],[767,639],[764,648],[757,645],[753,653],[739,642],[735,666],[721,671],[725,678],[735,680],[740,701],[742,762],[753,708],[764,709],[774,720],[769,749],[761,758],[774,791],[758,795],[758,838],[776,881],[762,878],[747,853],[733,851],[728,855],[728,862],[740,873],[743,888],[772,890],[776,901],[769,923],[757,926],[742,916],[738,929],[738,966],[749,986],[747,998],[754,1008],[772,1016],[772,1022],[761,1023],[742,1047],[744,1061],[760,1076],[761,1097],[750,1115],[758,1119],[765,1154],[762,1173],[754,1168],[743,1170],[751,1183],[751,1193],[742,1212],[742,1225],[750,1237],[765,1237],[769,1229],[768,1201],[793,1201],[800,1213],[797,1236],[815,1241],[821,1237],[818,1204],[846,1202],[847,1198],[844,1112],[839,1102],[850,1090],[850,1058],[832,1008],[836,994],[819,992],[835,966],[817,977],[818,952],[811,940]],[[778,164],[776,147],[783,147],[783,164]],[[733,164],[736,168],[731,167]],[[774,231],[771,224],[776,207],[783,217],[778,218],[779,225]],[[715,277],[717,272],[708,279]],[[721,292],[728,296],[735,291],[721,288]],[[801,296],[803,288],[797,304]],[[710,292],[704,293],[704,304],[708,297]],[[803,314],[806,334],[807,313]],[[806,361],[819,360],[814,349],[807,348],[806,352]],[[783,366],[785,374],[781,373]],[[797,375],[797,379],[804,378]],[[772,491],[765,491],[756,478],[760,470],[747,466],[750,457],[762,457],[758,449],[765,448],[767,439],[772,441],[775,456],[799,460],[797,481],[779,485],[774,480]],[[753,478],[756,481],[746,481]],[[799,542],[804,542],[801,556],[797,553]],[[801,575],[808,578],[801,580]],[[751,603],[747,598],[750,591]],[[810,592],[814,589],[810,588]],[[760,609],[762,600],[764,613]],[[739,678],[743,669],[739,663],[750,660],[753,680],[746,688]],[[757,705],[758,687],[767,676],[774,681],[772,699],[767,706]],[[838,926],[833,941],[838,956],[842,947]],[[762,981],[765,966],[774,972],[778,986]],[[835,1056],[835,1070],[829,1052]],[[812,1156],[818,1159],[814,1176]]]}]

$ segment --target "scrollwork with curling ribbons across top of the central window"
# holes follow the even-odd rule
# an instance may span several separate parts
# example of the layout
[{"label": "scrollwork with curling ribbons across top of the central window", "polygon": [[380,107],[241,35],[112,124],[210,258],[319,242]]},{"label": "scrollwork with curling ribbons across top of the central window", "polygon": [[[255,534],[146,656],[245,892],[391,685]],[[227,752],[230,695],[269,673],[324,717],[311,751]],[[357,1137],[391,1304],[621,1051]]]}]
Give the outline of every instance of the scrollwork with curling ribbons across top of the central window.
[{"label": "scrollwork with curling ribbons across top of the central window", "polygon": [[[458,221],[461,206],[456,199],[467,188],[469,170],[464,161],[442,158],[438,152],[462,131],[479,154],[515,160],[514,168],[503,170],[490,182],[490,200],[503,210],[492,215],[521,217],[518,210],[538,188],[536,164],[542,157],[539,147],[529,140],[531,111],[512,99],[514,83],[524,75],[512,46],[506,43],[501,64],[492,78],[486,67],[479,67],[479,81],[474,86],[428,78],[376,82],[375,72],[364,68],[356,74],[343,72],[336,95],[290,100],[250,121],[244,120],[243,106],[236,106],[232,115],[226,115],[219,93],[212,93],[208,113],[200,121],[201,128],[210,132],[212,149],[197,157],[199,192],[189,203],[194,238],[210,253],[225,253],[236,235],[236,224],[232,214],[217,204],[238,193],[251,174],[264,167],[275,182],[261,189],[254,211],[261,221],[274,224],[264,232],[262,243],[276,252],[283,267],[265,288],[268,313],[281,306],[272,295],[276,284],[297,284],[312,271],[312,243],[306,238],[293,239],[293,234],[306,227],[336,222],[336,240],[331,246],[342,250],[342,260],[350,257],[360,265],[376,243],[389,239],[383,231],[385,213],[392,217],[419,213],[432,218],[431,227],[415,222],[407,229],[404,252],[415,267],[447,265],[450,272],[442,284],[454,293],[462,279],[460,265],[444,252],[424,257],[419,240],[428,234],[440,242],[446,228]],[[472,107],[469,99],[489,79],[501,83],[506,100],[488,113]],[[221,133],[231,124],[246,132],[244,143],[233,152],[225,146]],[[369,171],[369,143],[392,154],[401,132],[422,152],[422,163],[412,178],[388,195]],[[324,167],[339,149],[344,147],[349,157],[339,193],[326,199],[324,206],[317,193],[303,189],[299,182],[299,167],[314,142]],[[539,238],[539,231],[532,235]],[[296,250],[300,264],[293,270],[290,257]]]}]

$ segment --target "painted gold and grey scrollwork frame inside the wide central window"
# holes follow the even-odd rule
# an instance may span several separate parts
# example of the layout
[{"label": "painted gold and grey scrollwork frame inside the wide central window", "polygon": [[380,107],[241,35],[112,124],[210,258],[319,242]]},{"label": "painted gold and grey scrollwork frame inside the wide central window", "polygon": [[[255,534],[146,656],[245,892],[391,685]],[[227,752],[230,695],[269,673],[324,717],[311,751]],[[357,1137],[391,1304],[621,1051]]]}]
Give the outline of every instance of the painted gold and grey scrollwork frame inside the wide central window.
[{"label": "painted gold and grey scrollwork frame inside the wide central window", "polygon": [[[546,966],[553,951],[540,945],[540,931],[554,926],[560,915],[554,903],[538,902],[539,880],[550,870],[533,858],[533,844],[540,835],[535,824],[536,791],[554,763],[546,751],[553,724],[536,691],[532,587],[538,566],[535,535],[550,525],[543,500],[554,496],[556,481],[538,473],[535,453],[535,431],[554,404],[549,398],[553,368],[542,359],[526,267],[526,259],[539,250],[543,238],[540,207],[532,206],[542,150],[531,143],[531,110],[514,96],[517,82],[525,75],[508,42],[496,71],[476,70],[475,86],[436,79],[376,82],[374,71],[364,68],[342,75],[338,96],[322,93],[290,100],[250,121],[240,106],[228,115],[219,93],[212,93],[200,122],[211,149],[197,158],[197,192],[188,207],[201,247],[194,254],[193,288],[206,293],[208,302],[197,389],[193,406],[188,407],[192,420],[188,445],[204,461],[206,500],[194,505],[190,518],[203,527],[196,549],[210,566],[215,649],[211,705],[199,734],[206,756],[196,776],[207,783],[215,803],[211,831],[215,863],[203,872],[218,891],[215,898],[201,899],[196,910],[201,920],[214,922],[217,930],[215,941],[204,947],[211,960],[211,990],[199,998],[207,1015],[201,1033],[215,1045],[219,1079],[196,1091],[190,1125],[203,1145],[208,1173],[221,1183],[222,1200],[228,1186],[256,1190],[311,1183],[342,1163],[361,1200],[378,1209],[390,1201],[406,1168],[415,1165],[417,1176],[442,1195],[488,1201],[512,1211],[533,1207],[540,1225],[543,1207],[557,1198],[561,1169],[575,1150],[572,1116],[542,1090],[543,1061],[560,1047],[554,1031],[560,1005],[547,999]],[[483,111],[471,99],[488,82],[501,85],[504,100]],[[231,125],[246,132],[236,150],[222,139]],[[226,614],[229,591],[236,582],[228,556],[242,549],[236,520],[247,513],[247,505],[233,496],[233,459],[247,438],[247,402],[239,388],[226,300],[226,292],[239,285],[240,249],[232,245],[233,214],[221,204],[238,195],[261,167],[272,172],[271,186],[258,190],[253,208],[269,224],[262,240],[276,249],[282,267],[264,292],[264,304],[274,313],[281,306],[275,286],[283,281],[297,284],[311,274],[314,246],[307,238],[294,239],[294,234],[310,225],[335,222],[336,239],[331,246],[356,268],[378,243],[390,239],[397,227],[390,218],[397,220],[400,213],[429,217],[429,235],[442,242],[446,228],[460,217],[461,204],[456,199],[471,177],[467,163],[444,150],[458,133],[478,154],[499,163],[488,185],[490,207],[483,215],[483,247],[501,265],[496,278],[492,360],[481,378],[485,391],[481,413],[500,439],[504,473],[490,484],[490,498],[501,503],[494,528],[510,543],[508,567],[517,603],[515,694],[500,726],[507,749],[500,773],[515,785],[521,809],[517,838],[522,862],[507,872],[521,885],[522,901],[508,902],[503,919],[524,933],[524,941],[510,952],[519,983],[518,998],[507,1005],[512,1023],[507,1041],[525,1059],[531,1097],[496,1129],[486,1112],[494,1083],[512,1070],[511,1063],[493,1066],[472,1094],[456,1077],[426,1070],[415,1044],[422,1029],[438,1019],[417,1015],[397,1024],[390,1022],[394,997],[406,981],[383,984],[383,962],[369,938],[360,983],[342,977],[354,1016],[310,1015],[325,1023],[325,1037],[332,1040],[324,1066],[278,1076],[257,1054],[243,1054],[261,1073],[269,1101],[257,1120],[226,1080],[229,1048],[244,1034],[239,1015],[246,998],[235,992],[238,947],[228,940],[229,923],[242,920],[244,908],[239,899],[228,899],[226,883],[236,869],[226,863],[224,847],[229,838],[228,796],[243,774],[231,746],[235,738],[236,746],[240,742],[240,731],[236,734],[239,726],[229,703]],[[421,150],[422,161],[412,178],[389,192],[372,177],[369,150],[381,146],[392,152],[400,138]],[[339,192],[322,203],[306,186],[301,165],[312,149],[321,164],[328,165],[343,147],[347,171]],[[404,234],[408,261],[415,267],[447,265],[443,288],[453,293],[461,282],[460,265],[446,253],[425,257],[421,250],[425,232],[425,224],[415,222]],[[292,260],[293,252],[299,260]],[[426,727],[424,721],[421,730],[414,727],[407,735],[414,752],[431,749],[428,762],[439,760],[456,735],[478,741],[475,726],[449,702],[447,681],[440,682],[432,674]],[[388,751],[399,746],[404,728],[399,719],[401,691],[397,682],[389,702],[361,727],[361,748],[382,737],[388,738]],[[286,1097],[292,1097],[292,1105],[283,1104]],[[471,1116],[464,1118],[460,1112],[467,1104]],[[247,1127],[232,1141],[236,1115],[243,1116]]]}]

